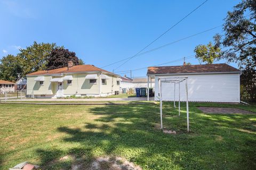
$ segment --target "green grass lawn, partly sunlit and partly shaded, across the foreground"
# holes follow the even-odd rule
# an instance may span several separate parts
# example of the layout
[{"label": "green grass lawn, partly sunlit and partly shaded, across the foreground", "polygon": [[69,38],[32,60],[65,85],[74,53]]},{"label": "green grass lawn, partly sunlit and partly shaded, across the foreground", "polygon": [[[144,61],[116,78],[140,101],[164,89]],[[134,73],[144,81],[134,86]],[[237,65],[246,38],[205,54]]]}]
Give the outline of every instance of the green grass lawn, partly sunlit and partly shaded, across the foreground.
[{"label": "green grass lawn, partly sunlit and partly shaded, across the foreground", "polygon": [[[190,103],[181,116],[164,103],[165,134],[158,105],[0,105],[0,169],[29,161],[43,169],[84,168],[99,156],[126,158],[142,169],[255,169],[256,116],[203,114],[196,106],[255,106]],[[66,155],[76,160],[60,160]],[[48,165],[48,166],[46,166]]]}]

